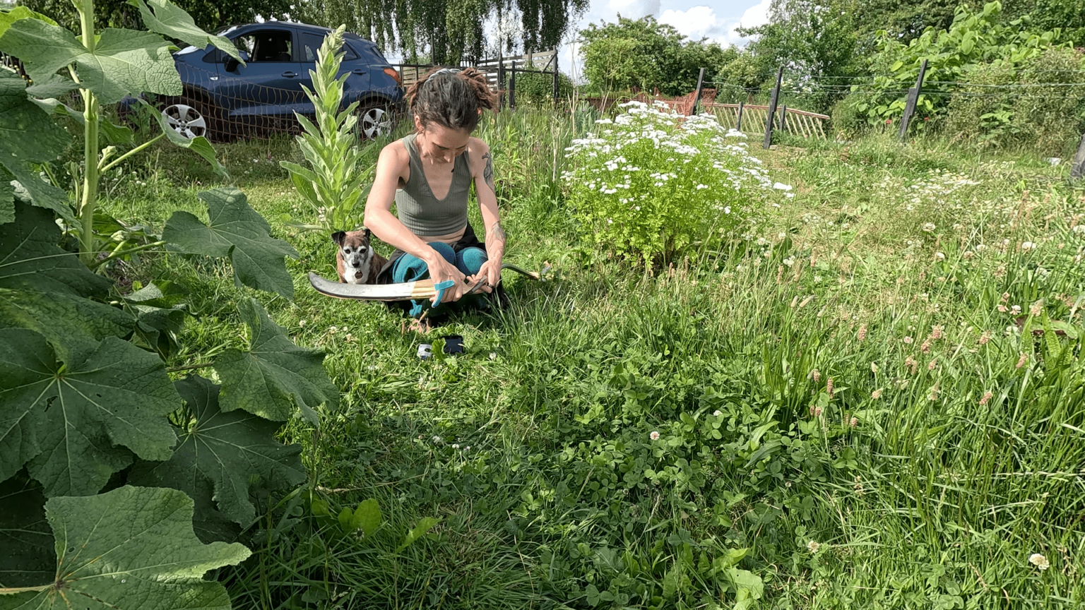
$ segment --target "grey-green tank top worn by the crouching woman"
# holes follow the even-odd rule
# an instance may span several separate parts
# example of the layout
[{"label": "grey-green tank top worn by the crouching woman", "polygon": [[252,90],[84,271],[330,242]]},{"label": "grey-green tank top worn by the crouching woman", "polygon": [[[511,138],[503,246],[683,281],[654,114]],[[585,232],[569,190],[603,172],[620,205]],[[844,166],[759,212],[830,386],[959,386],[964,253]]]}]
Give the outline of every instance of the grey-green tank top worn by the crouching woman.
[{"label": "grey-green tank top worn by the crouching woman", "polygon": [[445,236],[465,227],[468,194],[471,192],[471,164],[467,151],[456,157],[448,194],[438,200],[425,179],[422,158],[414,148],[414,134],[404,138],[403,143],[410,155],[410,179],[396,191],[399,221],[416,236]]}]

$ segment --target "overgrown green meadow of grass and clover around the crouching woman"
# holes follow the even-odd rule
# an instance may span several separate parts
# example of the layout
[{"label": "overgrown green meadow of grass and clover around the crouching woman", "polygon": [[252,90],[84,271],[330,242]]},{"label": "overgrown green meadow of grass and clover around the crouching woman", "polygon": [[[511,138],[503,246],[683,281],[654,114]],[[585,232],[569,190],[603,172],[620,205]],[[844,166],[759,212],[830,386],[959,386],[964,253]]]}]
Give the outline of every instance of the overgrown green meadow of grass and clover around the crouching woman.
[{"label": "overgrown green meadow of grass and clover around the crouching woman", "polygon": [[[592,200],[562,179],[597,118],[482,124],[507,258],[553,271],[510,274],[509,308],[427,334],[308,287],[334,277],[334,250],[292,228],[311,218],[279,166],[302,161],[290,140],[218,147],[301,255],[294,300],[264,294],[268,313],[328,353],[342,391],[319,428],[281,433],[315,493],[260,499],[253,557],[215,573],[235,608],[1085,603],[1085,196],[1065,166],[878,138],[752,144],[761,164],[728,169],[792,190],[751,191],[724,238],[646,265],[589,239]],[[163,211],[203,218],[195,193],[219,180],[155,149],[102,206],[161,229]],[[669,205],[701,209],[713,183]],[[741,192],[725,194],[754,201]],[[108,272],[189,292],[201,317],[174,369],[244,345],[251,291],[227,264],[152,254]],[[463,355],[417,357],[447,334]]]}]

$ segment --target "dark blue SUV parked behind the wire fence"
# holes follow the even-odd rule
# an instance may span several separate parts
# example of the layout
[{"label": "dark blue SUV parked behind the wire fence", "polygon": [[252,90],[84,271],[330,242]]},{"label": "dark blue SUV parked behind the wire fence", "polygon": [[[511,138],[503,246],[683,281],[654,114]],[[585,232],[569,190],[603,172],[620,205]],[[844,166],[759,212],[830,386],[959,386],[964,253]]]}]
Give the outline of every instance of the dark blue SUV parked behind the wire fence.
[{"label": "dark blue SUV parked behind the wire fence", "polygon": [[[233,26],[219,31],[241,52],[245,65],[208,46],[174,53],[183,93],[159,96],[157,107],[169,125],[187,138],[213,140],[296,132],[294,113],[314,116],[302,86],[312,88],[317,49],[327,27],[286,22]],[[358,129],[363,138],[388,134],[404,109],[403,81],[376,45],[356,34],[344,36],[340,75],[347,74],[343,107],[358,102]],[[122,102],[124,104],[124,102]],[[122,109],[123,111],[126,109]]]}]

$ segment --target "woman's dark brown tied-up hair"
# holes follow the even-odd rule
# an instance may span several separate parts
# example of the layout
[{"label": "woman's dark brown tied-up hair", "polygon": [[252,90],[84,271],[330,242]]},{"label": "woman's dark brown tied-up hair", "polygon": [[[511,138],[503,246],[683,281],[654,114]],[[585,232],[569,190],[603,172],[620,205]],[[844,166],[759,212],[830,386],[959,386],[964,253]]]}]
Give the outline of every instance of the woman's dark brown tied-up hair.
[{"label": "woman's dark brown tied-up hair", "polygon": [[473,67],[434,68],[407,89],[411,116],[418,115],[424,129],[436,123],[449,129],[474,131],[478,110],[497,110],[497,96],[489,90],[486,75]]}]

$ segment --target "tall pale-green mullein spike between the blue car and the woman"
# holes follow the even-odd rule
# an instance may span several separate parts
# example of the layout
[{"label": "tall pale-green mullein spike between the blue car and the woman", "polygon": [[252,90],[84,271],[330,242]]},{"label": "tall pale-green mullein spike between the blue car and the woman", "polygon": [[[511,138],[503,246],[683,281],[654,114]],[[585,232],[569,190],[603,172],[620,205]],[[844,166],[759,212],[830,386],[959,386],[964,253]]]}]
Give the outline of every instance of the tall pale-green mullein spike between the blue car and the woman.
[{"label": "tall pale-green mullein spike between the blue car and the woman", "polygon": [[[358,145],[355,111],[358,102],[344,110],[343,84],[347,75],[335,77],[343,61],[343,30],[340,26],[330,33],[317,51],[317,69],[309,71],[314,89],[305,87],[305,94],[316,109],[315,120],[295,113],[305,132],[297,137],[297,144],[310,168],[296,163],[280,162],[290,171],[297,192],[312,206],[318,224],[298,224],[310,230],[339,231],[357,227],[355,207],[369,192],[362,188],[371,182],[367,178],[371,168],[362,167],[366,148]],[[371,144],[370,144],[371,145]]]}]

